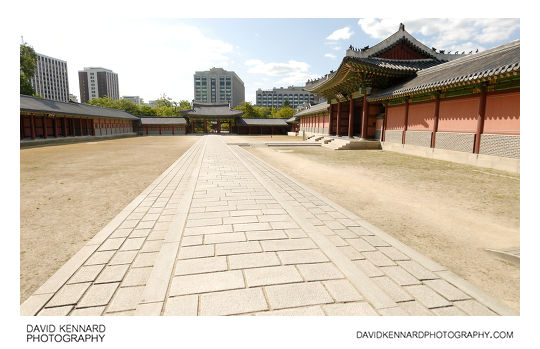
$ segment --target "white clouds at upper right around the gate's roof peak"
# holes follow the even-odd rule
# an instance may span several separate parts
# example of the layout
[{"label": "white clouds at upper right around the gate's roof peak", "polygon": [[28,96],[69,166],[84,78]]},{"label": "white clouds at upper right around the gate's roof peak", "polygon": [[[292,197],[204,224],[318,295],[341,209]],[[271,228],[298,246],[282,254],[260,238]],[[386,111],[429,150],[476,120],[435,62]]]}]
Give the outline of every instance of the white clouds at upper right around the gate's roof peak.
[{"label": "white clouds at upper right around the gate's roof peak", "polygon": [[[362,30],[377,39],[385,39],[399,28],[400,19],[360,19]],[[438,49],[482,49],[497,41],[507,40],[520,27],[516,18],[410,18],[404,21],[411,34],[427,37],[425,44]]]}]

